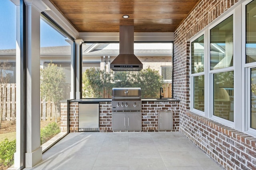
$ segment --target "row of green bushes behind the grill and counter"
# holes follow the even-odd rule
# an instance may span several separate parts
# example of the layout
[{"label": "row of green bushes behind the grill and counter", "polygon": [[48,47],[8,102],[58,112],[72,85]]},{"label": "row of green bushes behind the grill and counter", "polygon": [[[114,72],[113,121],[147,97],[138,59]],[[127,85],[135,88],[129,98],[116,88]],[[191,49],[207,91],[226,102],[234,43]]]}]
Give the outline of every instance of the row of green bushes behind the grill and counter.
[{"label": "row of green bushes behind the grill and counter", "polygon": [[162,86],[162,76],[158,71],[151,68],[137,71],[105,72],[99,68],[90,68],[83,73],[82,89],[83,98],[102,98],[104,90],[111,92],[113,87],[140,87],[142,97],[159,97]]}]

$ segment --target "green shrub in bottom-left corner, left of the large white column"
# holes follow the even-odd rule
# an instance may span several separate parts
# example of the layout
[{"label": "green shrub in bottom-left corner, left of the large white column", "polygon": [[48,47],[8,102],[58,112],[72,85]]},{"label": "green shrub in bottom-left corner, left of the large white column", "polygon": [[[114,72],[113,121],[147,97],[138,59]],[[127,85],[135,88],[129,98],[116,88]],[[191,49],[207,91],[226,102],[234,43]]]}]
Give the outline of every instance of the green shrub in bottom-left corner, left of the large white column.
[{"label": "green shrub in bottom-left corner, left of the large white column", "polygon": [[0,166],[14,164],[14,152],[16,152],[16,139],[9,141],[6,138],[0,142]]}]

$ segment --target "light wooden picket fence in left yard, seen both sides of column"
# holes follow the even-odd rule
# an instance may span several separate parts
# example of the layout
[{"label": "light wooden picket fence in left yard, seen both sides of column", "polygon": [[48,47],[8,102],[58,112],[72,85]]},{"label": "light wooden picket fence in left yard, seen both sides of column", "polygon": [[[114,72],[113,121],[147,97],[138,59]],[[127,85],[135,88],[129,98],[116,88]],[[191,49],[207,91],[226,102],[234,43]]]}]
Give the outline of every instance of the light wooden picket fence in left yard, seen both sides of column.
[{"label": "light wooden picket fence in left yard, seen both sides of column", "polygon": [[[16,118],[16,84],[0,84],[0,113],[2,120],[15,120]],[[41,120],[55,120],[55,106],[52,102],[40,100]],[[57,119],[60,119],[60,107],[57,106]]]}]

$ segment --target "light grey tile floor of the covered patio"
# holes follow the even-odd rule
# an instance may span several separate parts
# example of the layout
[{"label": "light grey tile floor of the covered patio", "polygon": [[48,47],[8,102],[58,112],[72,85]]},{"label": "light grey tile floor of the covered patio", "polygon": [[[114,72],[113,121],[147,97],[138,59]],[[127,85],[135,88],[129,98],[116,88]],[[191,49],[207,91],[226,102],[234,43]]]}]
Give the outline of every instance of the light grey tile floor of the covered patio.
[{"label": "light grey tile floor of the covered patio", "polygon": [[222,170],[180,132],[69,133],[25,170]]}]

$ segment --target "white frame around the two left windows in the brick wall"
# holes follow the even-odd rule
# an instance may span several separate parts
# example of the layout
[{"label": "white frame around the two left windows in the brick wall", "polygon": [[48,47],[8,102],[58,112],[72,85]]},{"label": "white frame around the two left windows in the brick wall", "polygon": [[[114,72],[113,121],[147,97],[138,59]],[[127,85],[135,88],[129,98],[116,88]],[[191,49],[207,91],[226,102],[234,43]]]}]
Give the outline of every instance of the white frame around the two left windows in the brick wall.
[{"label": "white frame around the two left windows in the brick wall", "polygon": [[[248,0],[252,1],[252,0]],[[233,15],[233,66],[227,67],[227,68],[220,68],[216,70],[210,70],[210,30],[221,23],[222,21],[226,20],[228,17]],[[209,119],[212,119],[214,121],[217,121],[218,123],[222,123],[223,125],[226,125],[228,127],[232,127],[238,131],[243,131],[242,127],[244,127],[244,99],[243,99],[243,90],[244,86],[242,82],[245,80],[245,77],[243,75],[244,71],[242,70],[242,59],[244,57],[241,57],[242,55],[242,2],[238,2],[237,4],[234,4],[230,9],[228,9],[224,14],[222,14],[218,19],[212,21],[208,26],[206,26],[200,33],[196,34],[194,37],[190,39],[190,42],[194,41],[198,37],[200,37],[202,34],[204,34],[204,41],[206,43],[205,45],[205,65],[204,65],[204,80],[205,80],[205,105],[204,105],[204,112],[201,112],[193,109],[190,107],[190,110],[194,113],[203,115],[204,117],[207,117]],[[245,23],[245,21],[244,21]],[[245,26],[244,26],[245,27]],[[191,44],[190,44],[191,46]],[[244,49],[245,50],[245,49]],[[244,53],[245,54],[245,53]],[[191,56],[191,50],[190,50],[190,56]],[[190,57],[191,62],[191,57]],[[242,71],[241,71],[242,70]],[[221,117],[217,117],[213,115],[213,74],[218,72],[227,72],[227,71],[234,71],[234,121],[229,121],[226,119],[223,119]],[[193,86],[194,82],[193,79],[196,74],[191,74],[190,72],[190,101],[191,106],[193,106]],[[245,91],[245,90],[244,90]],[[242,97],[241,97],[242,96]],[[242,106],[241,106],[242,104]]]}]

